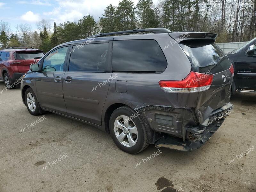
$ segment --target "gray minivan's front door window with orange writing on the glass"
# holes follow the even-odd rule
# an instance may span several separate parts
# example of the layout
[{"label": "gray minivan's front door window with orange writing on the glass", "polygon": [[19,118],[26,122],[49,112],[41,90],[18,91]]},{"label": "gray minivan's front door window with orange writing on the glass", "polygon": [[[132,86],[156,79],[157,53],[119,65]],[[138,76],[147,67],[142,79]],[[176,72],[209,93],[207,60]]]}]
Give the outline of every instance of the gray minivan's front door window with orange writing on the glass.
[{"label": "gray minivan's front door window with orange writing on the glass", "polygon": [[52,51],[44,58],[43,72],[63,71],[68,47],[62,47]]}]

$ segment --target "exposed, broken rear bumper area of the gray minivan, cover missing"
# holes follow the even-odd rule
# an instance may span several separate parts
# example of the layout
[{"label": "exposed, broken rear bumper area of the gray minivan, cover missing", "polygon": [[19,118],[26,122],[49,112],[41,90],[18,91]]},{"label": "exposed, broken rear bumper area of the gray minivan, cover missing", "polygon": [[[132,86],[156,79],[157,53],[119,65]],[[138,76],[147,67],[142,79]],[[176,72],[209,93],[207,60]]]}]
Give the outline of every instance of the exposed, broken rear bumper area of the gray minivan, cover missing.
[{"label": "exposed, broken rear bumper area of the gray minivan, cover missing", "polygon": [[152,134],[153,137],[150,137],[153,138],[150,142],[155,143],[157,148],[165,147],[180,151],[193,151],[200,148],[212,137],[232,109],[233,104],[227,103],[212,111],[204,124],[199,124],[195,120],[191,109],[180,110],[151,106],[144,108],[140,113],[143,119],[146,117],[144,120],[149,119],[145,122],[147,122],[148,127],[155,131]]}]

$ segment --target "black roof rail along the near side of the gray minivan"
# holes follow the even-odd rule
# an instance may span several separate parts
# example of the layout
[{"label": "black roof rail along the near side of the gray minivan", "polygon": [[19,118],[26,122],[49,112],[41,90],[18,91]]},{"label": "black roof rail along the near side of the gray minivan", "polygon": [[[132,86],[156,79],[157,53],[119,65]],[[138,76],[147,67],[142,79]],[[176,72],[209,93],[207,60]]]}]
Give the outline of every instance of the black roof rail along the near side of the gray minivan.
[{"label": "black roof rail along the near side of the gray minivan", "polygon": [[117,34],[124,34],[128,35],[128,33],[140,33],[140,32],[153,32],[153,33],[171,33],[169,29],[166,28],[148,28],[148,29],[140,29],[140,28],[135,28],[133,30],[127,30],[127,31],[116,31],[116,32],[110,32],[110,33],[100,33],[97,35],[89,36],[87,38],[96,38],[96,37],[102,37],[102,36],[108,36],[108,35],[117,35]]}]

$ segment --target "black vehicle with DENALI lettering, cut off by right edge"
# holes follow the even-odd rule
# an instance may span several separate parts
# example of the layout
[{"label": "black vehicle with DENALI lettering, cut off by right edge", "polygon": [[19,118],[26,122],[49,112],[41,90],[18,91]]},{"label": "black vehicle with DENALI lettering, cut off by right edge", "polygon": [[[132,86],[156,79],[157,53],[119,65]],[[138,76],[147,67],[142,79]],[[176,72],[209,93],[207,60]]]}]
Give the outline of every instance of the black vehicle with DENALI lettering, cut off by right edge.
[{"label": "black vehicle with DENALI lettering, cut off by right edge", "polygon": [[232,94],[237,89],[256,91],[256,38],[227,55],[235,69]]}]

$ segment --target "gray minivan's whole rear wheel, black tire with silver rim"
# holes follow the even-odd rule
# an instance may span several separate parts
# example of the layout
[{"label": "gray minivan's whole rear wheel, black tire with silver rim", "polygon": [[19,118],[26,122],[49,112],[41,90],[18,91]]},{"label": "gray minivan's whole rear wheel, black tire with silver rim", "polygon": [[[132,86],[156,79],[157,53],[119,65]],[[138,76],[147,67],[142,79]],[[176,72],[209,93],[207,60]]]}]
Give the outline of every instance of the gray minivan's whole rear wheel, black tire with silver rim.
[{"label": "gray minivan's whole rear wheel, black tire with silver rim", "polygon": [[109,120],[109,131],[116,146],[126,153],[140,153],[149,145],[143,120],[140,115],[127,106],[117,108],[112,113]]}]

